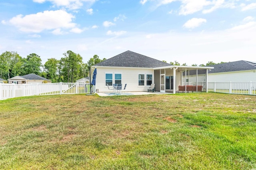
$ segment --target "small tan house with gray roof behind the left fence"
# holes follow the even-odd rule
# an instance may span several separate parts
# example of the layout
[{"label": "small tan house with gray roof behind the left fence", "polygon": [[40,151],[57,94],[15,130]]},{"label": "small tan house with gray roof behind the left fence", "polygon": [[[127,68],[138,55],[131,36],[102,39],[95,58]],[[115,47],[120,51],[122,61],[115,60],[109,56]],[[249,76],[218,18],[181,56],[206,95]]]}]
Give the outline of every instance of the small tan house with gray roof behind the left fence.
[{"label": "small tan house with gray roof behind the left fence", "polygon": [[40,84],[46,81],[47,83],[52,83],[51,80],[47,78],[38,76],[36,74],[27,74],[24,76],[15,76],[13,78],[8,79],[9,84]]}]

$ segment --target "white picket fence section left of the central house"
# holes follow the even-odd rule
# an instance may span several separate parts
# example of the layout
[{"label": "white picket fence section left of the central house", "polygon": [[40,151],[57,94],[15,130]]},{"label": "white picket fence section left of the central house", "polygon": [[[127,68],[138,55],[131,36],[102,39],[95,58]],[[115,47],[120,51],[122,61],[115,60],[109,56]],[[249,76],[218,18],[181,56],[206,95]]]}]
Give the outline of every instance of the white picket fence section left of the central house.
[{"label": "white picket fence section left of the central house", "polygon": [[[95,86],[92,86],[92,93]],[[23,96],[90,93],[90,83],[0,84],[0,100]]]}]

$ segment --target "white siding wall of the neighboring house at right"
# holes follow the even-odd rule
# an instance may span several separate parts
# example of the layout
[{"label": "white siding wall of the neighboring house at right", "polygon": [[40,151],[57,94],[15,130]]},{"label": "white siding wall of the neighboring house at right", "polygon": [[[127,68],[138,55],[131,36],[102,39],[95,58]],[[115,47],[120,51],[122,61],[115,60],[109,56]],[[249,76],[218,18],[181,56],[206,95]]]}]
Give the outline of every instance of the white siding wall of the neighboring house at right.
[{"label": "white siding wall of the neighboring house at right", "polygon": [[[198,75],[198,82],[205,82],[206,74]],[[188,78],[188,76],[187,76]],[[183,76],[185,81],[185,76]],[[256,70],[221,72],[208,74],[208,82],[256,82]],[[189,82],[196,82],[196,75],[189,76]]]}]

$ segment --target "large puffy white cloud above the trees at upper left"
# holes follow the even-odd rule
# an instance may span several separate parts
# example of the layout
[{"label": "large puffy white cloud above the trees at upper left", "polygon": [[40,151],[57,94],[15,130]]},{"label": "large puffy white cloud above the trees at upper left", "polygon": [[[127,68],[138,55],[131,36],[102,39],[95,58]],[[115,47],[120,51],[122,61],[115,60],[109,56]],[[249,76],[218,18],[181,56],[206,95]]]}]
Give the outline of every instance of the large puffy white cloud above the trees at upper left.
[{"label": "large puffy white cloud above the trees at upper left", "polygon": [[72,23],[75,18],[72,14],[63,10],[44,11],[26,16],[18,15],[13,17],[10,24],[18,27],[20,31],[40,33],[44,30],[57,28],[73,28],[76,23]]}]

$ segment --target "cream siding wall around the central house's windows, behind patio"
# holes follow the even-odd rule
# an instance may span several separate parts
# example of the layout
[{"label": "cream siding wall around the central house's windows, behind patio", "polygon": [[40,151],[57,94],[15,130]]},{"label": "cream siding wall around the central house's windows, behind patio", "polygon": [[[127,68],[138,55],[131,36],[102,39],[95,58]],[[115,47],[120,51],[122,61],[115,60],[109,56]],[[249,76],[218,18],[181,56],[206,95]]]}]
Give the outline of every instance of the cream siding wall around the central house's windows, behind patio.
[{"label": "cream siding wall around the central house's windows, behind patio", "polygon": [[[147,91],[150,86],[146,86],[146,74],[153,75],[154,70],[152,68],[149,69],[135,69],[135,68],[102,68],[97,67],[97,76],[96,76],[96,89],[98,92],[111,92],[108,90],[108,86],[105,85],[105,74],[112,73],[113,74],[113,82],[114,82],[114,74],[122,74],[122,88],[127,84],[126,90],[122,90],[122,92],[141,92]],[[145,82],[144,86],[138,85],[138,74],[145,74]],[[154,82],[154,80],[152,81]],[[111,86],[112,88],[112,86]]]}]

